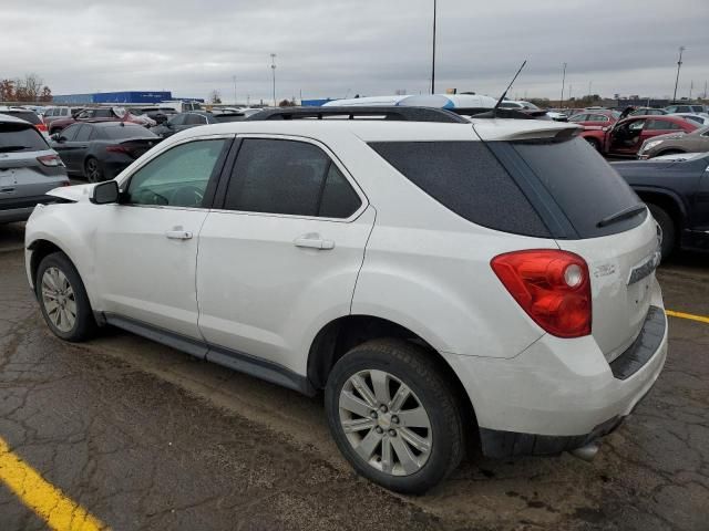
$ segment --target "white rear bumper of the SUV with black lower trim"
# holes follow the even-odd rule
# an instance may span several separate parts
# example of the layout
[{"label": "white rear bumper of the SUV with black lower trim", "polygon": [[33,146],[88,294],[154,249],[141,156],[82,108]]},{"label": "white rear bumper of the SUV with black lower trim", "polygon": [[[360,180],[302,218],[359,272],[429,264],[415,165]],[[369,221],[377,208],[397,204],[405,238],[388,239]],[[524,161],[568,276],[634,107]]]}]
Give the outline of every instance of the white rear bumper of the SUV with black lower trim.
[{"label": "white rear bumper of the SUV with black lower trim", "polygon": [[582,447],[620,424],[648,393],[667,356],[659,288],[638,340],[609,364],[593,336],[545,335],[508,360],[451,356],[491,457]]}]

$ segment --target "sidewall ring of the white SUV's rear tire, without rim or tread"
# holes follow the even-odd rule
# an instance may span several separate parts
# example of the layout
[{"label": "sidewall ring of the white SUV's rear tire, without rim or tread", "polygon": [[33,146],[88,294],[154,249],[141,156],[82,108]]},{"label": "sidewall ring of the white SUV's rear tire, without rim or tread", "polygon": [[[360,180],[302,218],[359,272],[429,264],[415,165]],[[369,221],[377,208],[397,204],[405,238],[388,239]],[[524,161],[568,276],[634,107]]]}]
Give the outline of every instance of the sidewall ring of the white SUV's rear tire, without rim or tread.
[{"label": "sidewall ring of the white SUV's rear tire, without rim or tread", "polygon": [[[352,354],[346,354],[336,364],[325,393],[328,425],[338,448],[360,475],[382,487],[403,493],[425,492],[448,476],[451,469],[452,441],[456,436],[445,423],[445,415],[439,410],[441,396],[427,386],[411,366],[395,357],[383,358],[379,352],[367,348],[359,348]],[[429,415],[432,429],[431,455],[423,467],[410,476],[391,476],[364,462],[341,429],[339,397],[342,386],[351,375],[367,369],[386,371],[401,379],[418,396]]]}]

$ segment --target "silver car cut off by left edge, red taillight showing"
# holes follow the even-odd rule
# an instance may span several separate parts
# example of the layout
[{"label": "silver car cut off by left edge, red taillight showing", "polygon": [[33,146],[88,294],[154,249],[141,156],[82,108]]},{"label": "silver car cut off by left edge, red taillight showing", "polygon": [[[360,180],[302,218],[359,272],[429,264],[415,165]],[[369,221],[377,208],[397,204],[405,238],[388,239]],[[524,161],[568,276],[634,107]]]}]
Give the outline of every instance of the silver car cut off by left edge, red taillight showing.
[{"label": "silver car cut off by left edge, red taillight showing", "polygon": [[69,185],[66,168],[37,128],[0,114],[0,223],[24,221],[44,194]]}]

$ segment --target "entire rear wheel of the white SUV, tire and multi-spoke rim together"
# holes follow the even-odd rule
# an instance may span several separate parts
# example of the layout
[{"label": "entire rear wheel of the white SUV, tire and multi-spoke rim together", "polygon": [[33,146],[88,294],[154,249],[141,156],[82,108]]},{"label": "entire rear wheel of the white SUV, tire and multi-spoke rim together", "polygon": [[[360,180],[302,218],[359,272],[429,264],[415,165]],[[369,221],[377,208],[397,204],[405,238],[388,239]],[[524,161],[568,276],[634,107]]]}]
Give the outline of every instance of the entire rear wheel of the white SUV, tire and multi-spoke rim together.
[{"label": "entire rear wheel of the white SUV, tire and multi-spoke rim together", "polygon": [[354,469],[398,492],[423,493],[463,456],[461,408],[431,354],[400,340],[373,340],[335,365],[326,410]]}]

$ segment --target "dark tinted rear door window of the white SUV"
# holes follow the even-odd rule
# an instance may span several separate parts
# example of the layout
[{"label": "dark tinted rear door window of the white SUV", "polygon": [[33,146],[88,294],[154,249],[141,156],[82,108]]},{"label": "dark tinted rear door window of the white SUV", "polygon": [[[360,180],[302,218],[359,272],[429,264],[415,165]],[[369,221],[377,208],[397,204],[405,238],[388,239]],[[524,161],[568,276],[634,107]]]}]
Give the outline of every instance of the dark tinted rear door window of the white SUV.
[{"label": "dark tinted rear door window of the white SUV", "polygon": [[347,218],[359,206],[354,190],[319,147],[247,138],[239,149],[224,208]]}]

